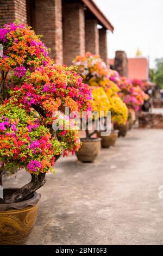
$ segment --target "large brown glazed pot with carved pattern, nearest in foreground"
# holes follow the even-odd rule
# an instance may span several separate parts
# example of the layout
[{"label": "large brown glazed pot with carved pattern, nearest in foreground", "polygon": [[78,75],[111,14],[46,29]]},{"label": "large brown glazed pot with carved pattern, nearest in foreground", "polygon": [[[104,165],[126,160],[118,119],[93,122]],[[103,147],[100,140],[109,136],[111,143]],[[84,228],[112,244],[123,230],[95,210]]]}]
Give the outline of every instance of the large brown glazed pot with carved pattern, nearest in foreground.
[{"label": "large brown glazed pot with carved pattern, nearest in foreground", "polygon": [[[17,188],[4,189],[5,194],[12,194]],[[37,218],[38,202],[41,194],[20,203],[0,203],[0,245],[23,245],[27,242]]]}]

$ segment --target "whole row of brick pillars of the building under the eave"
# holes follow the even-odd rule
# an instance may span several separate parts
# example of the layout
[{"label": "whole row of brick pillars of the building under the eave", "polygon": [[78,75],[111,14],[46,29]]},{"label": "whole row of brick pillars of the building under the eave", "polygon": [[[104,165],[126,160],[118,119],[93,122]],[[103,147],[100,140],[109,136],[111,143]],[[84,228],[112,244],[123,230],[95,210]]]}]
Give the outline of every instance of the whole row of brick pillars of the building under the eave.
[{"label": "whole row of brick pillars of the building under the eave", "polygon": [[99,47],[106,60],[106,31],[102,29],[99,35],[98,21],[85,15],[82,1],[0,0],[0,26],[16,19],[43,35],[42,41],[51,48],[49,55],[57,64],[71,65],[72,59],[85,51],[99,54]]}]

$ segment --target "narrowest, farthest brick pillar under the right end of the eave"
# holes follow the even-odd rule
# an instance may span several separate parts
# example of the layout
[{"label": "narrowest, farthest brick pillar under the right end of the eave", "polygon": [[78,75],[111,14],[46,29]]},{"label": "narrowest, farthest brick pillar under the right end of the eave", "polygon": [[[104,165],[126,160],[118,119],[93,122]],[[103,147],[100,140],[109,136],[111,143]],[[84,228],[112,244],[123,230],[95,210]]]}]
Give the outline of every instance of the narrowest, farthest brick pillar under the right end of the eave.
[{"label": "narrowest, farthest brick pillar under the right end of the eave", "polygon": [[106,29],[99,29],[99,54],[104,62],[108,62],[108,46]]}]

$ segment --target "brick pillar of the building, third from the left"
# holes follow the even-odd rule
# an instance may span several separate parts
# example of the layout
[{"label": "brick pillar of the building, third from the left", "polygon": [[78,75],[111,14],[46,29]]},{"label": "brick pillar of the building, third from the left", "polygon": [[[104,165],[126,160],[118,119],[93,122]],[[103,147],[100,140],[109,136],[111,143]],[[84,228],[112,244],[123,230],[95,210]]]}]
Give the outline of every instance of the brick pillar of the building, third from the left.
[{"label": "brick pillar of the building, third from the left", "polygon": [[79,54],[85,53],[84,7],[80,3],[63,5],[64,64],[71,65]]}]

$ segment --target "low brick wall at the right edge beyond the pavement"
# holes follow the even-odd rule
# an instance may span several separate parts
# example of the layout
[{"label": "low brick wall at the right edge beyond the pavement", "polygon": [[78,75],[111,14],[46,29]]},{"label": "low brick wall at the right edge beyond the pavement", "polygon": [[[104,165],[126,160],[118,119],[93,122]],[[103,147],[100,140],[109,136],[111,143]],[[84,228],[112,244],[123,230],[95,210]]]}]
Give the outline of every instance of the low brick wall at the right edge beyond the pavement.
[{"label": "low brick wall at the right edge beyond the pavement", "polygon": [[140,112],[139,128],[163,129],[163,115],[155,113]]}]

